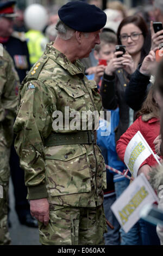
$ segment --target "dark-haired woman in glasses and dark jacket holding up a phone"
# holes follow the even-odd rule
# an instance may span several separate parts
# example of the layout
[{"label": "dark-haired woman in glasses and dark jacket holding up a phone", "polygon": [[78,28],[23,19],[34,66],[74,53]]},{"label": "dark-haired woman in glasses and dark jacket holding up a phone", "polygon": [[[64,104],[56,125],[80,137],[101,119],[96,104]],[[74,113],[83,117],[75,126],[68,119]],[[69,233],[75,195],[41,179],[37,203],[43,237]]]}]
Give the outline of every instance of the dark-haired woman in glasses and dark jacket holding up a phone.
[{"label": "dark-haired woman in glasses and dark jacket holding up a phone", "polygon": [[122,52],[115,52],[105,69],[101,96],[105,109],[120,109],[120,123],[117,128],[116,140],[126,132],[133,123],[134,112],[126,104],[124,94],[130,80],[139,63],[148,54],[151,47],[148,28],[141,16],[128,16],[122,20],[117,31],[118,44],[126,46],[126,53],[117,57]]}]

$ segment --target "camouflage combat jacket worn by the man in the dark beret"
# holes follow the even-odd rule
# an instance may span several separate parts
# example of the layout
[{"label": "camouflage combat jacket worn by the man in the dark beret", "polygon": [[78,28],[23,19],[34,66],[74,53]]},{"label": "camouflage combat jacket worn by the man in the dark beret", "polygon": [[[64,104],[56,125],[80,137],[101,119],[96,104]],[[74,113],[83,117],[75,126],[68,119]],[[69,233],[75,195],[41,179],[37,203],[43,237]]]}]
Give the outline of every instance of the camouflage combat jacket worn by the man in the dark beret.
[{"label": "camouflage combat jacket worn by the man in the dark beret", "polygon": [[[25,171],[29,199],[48,197],[62,206],[96,207],[103,203],[105,164],[97,145],[45,146],[55,133],[54,111],[99,111],[101,97],[94,81],[87,80],[79,61],[70,62],[48,44],[39,61],[24,79],[20,90],[14,132],[15,148]],[[81,128],[82,129],[82,128]]]}]

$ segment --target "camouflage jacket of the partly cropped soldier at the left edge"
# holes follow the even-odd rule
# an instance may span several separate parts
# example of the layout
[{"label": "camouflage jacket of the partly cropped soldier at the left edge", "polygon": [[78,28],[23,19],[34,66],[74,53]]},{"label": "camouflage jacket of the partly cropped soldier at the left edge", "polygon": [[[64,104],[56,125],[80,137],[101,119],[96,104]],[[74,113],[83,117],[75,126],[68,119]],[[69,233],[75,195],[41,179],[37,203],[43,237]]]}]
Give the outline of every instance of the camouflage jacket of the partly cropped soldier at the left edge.
[{"label": "camouflage jacket of the partly cropped soldier at the left edge", "polygon": [[18,86],[19,79],[12,58],[3,49],[3,56],[0,56],[0,144],[8,148],[12,143]]}]

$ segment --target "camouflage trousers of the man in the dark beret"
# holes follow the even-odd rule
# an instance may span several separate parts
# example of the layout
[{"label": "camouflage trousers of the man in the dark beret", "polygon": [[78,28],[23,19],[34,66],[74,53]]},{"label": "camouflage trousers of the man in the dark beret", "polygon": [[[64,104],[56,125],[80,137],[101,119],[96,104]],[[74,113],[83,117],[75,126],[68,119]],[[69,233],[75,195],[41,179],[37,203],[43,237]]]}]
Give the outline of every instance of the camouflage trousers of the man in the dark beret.
[{"label": "camouflage trousers of the man in the dark beret", "polygon": [[103,205],[96,208],[50,205],[47,226],[39,222],[42,245],[104,245]]}]

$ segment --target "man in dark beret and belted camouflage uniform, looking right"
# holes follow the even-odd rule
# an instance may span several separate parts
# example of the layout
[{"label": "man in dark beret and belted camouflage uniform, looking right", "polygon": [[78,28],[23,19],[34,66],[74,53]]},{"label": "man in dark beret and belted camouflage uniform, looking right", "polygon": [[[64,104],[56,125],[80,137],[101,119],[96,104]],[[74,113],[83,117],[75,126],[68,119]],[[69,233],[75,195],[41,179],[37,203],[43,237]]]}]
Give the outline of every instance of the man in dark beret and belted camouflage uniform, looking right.
[{"label": "man in dark beret and belted camouflage uniform, looking right", "polygon": [[[82,130],[82,112],[99,112],[102,104],[95,81],[87,80],[77,59],[89,56],[100,43],[106,15],[80,1],[63,5],[58,14],[57,39],[20,87],[15,148],[25,171],[30,211],[39,220],[40,242],[103,245],[105,164],[88,121]],[[59,129],[55,111],[63,115]],[[74,130],[69,126],[72,111],[80,114],[81,123]]]}]

